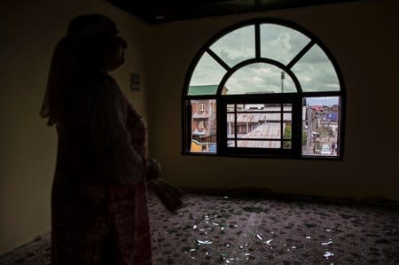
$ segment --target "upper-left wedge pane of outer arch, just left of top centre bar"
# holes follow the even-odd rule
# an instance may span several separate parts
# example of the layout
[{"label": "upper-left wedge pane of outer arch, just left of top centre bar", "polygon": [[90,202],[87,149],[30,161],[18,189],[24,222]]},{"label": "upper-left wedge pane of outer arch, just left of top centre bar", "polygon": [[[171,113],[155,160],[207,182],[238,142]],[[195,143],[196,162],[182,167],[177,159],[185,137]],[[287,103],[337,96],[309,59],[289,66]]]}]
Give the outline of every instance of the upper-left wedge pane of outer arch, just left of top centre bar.
[{"label": "upper-left wedge pane of outer arch, just left of top centre bar", "polygon": [[254,26],[241,27],[224,35],[210,49],[228,66],[255,57]]}]

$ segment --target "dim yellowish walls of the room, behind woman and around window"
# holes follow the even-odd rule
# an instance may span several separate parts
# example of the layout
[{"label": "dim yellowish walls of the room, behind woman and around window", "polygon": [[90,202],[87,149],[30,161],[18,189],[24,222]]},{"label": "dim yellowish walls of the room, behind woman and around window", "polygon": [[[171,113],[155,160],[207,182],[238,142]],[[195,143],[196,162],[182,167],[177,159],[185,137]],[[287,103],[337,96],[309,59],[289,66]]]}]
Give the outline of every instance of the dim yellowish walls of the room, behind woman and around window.
[{"label": "dim yellowish walls of the room, behind woman and around window", "polygon": [[[368,0],[149,27],[102,0],[1,1],[0,254],[50,230],[57,138],[38,113],[51,52],[69,20],[88,12],[114,19],[129,43],[128,64],[114,75],[148,119],[150,152],[170,181],[184,187],[257,186],[399,200],[397,5]],[[348,90],[343,161],[181,155],[182,90],[192,58],[223,27],[255,17],[297,22],[337,59]],[[142,74],[143,92],[129,92],[129,72]]]}]

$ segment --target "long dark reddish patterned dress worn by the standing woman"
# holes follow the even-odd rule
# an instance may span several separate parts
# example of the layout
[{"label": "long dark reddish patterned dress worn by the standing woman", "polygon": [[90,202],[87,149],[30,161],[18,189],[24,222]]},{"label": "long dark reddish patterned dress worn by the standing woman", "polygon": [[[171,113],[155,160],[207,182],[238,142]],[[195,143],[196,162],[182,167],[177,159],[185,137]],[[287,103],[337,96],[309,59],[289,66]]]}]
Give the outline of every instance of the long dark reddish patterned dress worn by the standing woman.
[{"label": "long dark reddish patterned dress worn by the standing woman", "polygon": [[146,128],[113,78],[66,92],[51,191],[51,264],[152,264]]}]

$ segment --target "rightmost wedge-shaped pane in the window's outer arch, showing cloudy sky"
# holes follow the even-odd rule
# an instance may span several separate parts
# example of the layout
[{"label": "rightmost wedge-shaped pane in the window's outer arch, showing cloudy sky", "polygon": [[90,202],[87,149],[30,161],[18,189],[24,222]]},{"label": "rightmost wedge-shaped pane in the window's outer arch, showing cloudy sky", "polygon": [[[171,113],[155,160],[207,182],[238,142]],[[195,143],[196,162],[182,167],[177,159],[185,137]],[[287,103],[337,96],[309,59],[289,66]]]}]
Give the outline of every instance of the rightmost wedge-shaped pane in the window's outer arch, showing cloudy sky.
[{"label": "rightmost wedge-shaped pane in the window's outer arch, showing cloudy sky", "polygon": [[340,90],[340,82],[332,62],[318,45],[314,45],[292,70],[304,92]]}]

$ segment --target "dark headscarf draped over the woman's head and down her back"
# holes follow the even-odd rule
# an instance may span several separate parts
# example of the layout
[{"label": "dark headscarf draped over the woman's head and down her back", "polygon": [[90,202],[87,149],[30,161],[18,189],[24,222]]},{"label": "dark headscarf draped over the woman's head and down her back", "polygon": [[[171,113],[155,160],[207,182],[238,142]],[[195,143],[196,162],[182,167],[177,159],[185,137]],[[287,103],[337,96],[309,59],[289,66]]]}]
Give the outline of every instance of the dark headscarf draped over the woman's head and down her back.
[{"label": "dark headscarf draped over the woman's head and down her back", "polygon": [[117,35],[112,19],[99,14],[86,14],[73,19],[66,37],[57,43],[51,58],[47,87],[40,115],[47,125],[56,124],[64,115],[66,90],[74,77],[82,72],[98,71],[100,40]]}]

